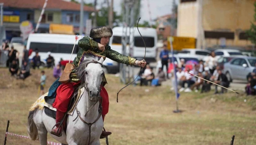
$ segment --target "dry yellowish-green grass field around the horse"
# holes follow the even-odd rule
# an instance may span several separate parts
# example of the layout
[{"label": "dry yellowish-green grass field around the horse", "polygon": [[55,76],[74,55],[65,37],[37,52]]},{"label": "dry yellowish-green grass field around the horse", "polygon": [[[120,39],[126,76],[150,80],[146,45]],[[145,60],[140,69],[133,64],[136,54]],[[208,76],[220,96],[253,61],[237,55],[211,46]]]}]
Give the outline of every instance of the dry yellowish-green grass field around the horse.
[{"label": "dry yellowish-green grass field around the horse", "polygon": [[[28,108],[38,98],[39,70],[31,70],[27,80],[10,77],[0,69],[0,144],[4,143],[7,120],[9,132],[27,136]],[[55,81],[52,70],[46,70],[47,85]],[[175,95],[169,87],[129,87],[119,94],[118,78],[106,75],[110,108],[105,128],[111,131],[110,145],[234,145],[256,144],[256,98],[229,92],[224,95],[182,93],[179,108],[173,113]],[[149,89],[146,92],[145,89]],[[246,99],[246,102],[244,102]],[[48,138],[49,141],[55,141]],[[55,141],[56,142],[56,141]],[[7,145],[38,145],[38,141],[8,136]],[[105,144],[105,140],[101,140]]]}]

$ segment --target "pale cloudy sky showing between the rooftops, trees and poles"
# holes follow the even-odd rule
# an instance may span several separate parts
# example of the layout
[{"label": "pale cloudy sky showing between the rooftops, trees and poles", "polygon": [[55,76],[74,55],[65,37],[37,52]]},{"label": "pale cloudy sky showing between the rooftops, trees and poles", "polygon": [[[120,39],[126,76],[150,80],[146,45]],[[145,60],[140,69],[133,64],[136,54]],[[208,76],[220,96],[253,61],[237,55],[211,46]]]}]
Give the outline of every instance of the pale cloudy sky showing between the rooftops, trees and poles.
[{"label": "pale cloudy sky showing between the rooftops, trees and poles", "polygon": [[[80,0],[77,0],[77,1],[80,2]],[[150,2],[152,20],[156,19],[158,16],[171,14],[172,0],[141,0],[141,9],[140,9],[141,22],[150,21],[150,15],[148,11],[148,1]],[[177,4],[179,0],[175,0],[175,1]],[[84,0],[84,2],[93,3],[94,0]],[[97,0],[97,2],[98,2],[97,9],[99,9],[101,7],[100,6],[101,3],[104,2],[104,0]],[[122,0],[114,0],[114,11],[116,11],[118,14],[121,13],[121,2]]]}]

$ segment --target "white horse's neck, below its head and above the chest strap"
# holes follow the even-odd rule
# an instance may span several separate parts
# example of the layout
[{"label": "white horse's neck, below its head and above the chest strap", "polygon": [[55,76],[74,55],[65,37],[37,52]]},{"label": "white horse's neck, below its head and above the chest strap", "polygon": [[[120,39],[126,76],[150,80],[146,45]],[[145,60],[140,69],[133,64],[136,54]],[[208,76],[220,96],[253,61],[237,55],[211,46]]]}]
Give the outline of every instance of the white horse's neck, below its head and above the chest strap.
[{"label": "white horse's neck, below its head and above the chest strap", "polygon": [[[80,111],[80,116],[87,121],[94,121],[97,116],[98,116],[98,108],[99,108],[99,102],[97,101],[97,104],[93,106],[95,102],[90,101],[90,97],[88,96],[87,91],[84,91],[84,94],[81,96],[80,101],[77,104],[77,109]],[[86,112],[93,106],[93,108],[87,113],[86,117],[85,114]],[[94,119],[94,120],[93,120]]]}]

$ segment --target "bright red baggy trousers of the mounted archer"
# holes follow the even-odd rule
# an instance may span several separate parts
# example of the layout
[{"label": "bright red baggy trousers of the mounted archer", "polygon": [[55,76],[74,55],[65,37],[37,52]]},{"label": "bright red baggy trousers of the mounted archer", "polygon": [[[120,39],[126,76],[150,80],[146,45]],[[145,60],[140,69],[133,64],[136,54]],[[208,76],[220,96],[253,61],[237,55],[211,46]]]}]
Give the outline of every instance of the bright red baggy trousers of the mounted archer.
[{"label": "bright red baggy trousers of the mounted archer", "polygon": [[[72,83],[68,82],[65,84],[61,84],[56,91],[56,99],[53,103],[53,107],[58,111],[66,112],[68,109],[68,105],[71,102],[72,95],[74,94],[75,87],[77,87],[80,83]],[[109,112],[109,96],[108,92],[104,87],[100,91],[100,96],[102,97],[102,118],[104,120],[105,115]]]}]

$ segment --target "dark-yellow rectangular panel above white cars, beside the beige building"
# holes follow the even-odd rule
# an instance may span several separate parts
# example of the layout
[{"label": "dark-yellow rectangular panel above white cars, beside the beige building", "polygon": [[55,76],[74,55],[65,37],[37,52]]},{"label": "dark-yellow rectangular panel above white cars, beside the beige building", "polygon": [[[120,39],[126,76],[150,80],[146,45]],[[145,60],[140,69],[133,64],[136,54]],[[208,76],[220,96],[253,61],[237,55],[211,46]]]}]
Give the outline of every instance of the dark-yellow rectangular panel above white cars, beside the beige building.
[{"label": "dark-yellow rectangular panel above white cars, beside the beige building", "polygon": [[167,41],[167,47],[170,50],[170,39],[172,40],[173,50],[180,51],[183,48],[195,48],[196,39],[193,37],[169,37]]}]

